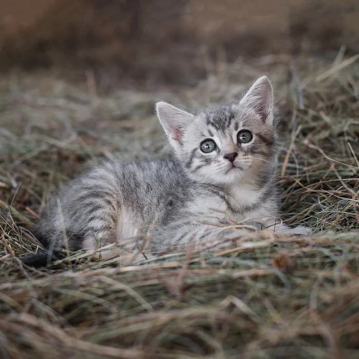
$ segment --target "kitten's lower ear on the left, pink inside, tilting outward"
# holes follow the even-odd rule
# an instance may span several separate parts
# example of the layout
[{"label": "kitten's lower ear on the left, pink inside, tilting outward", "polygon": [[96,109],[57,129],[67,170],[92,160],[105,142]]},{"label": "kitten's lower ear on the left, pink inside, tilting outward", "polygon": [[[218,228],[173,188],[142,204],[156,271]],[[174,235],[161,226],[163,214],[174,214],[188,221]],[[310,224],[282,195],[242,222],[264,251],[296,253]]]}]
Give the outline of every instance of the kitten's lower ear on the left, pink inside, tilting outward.
[{"label": "kitten's lower ear on the left, pink inside, tilting outward", "polygon": [[157,102],[156,112],[171,146],[174,148],[182,147],[183,131],[187,124],[193,120],[193,114],[162,101]]}]

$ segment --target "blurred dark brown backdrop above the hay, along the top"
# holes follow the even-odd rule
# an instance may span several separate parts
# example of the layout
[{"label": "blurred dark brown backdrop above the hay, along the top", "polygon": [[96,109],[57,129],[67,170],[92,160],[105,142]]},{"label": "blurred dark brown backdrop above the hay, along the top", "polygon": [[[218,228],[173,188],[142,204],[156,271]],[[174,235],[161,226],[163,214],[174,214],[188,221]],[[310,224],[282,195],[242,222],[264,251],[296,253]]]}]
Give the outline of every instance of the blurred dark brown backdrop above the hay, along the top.
[{"label": "blurred dark brown backdrop above the hay, along the top", "polygon": [[0,14],[3,70],[107,67],[190,84],[218,56],[359,51],[357,0],[3,0]]}]

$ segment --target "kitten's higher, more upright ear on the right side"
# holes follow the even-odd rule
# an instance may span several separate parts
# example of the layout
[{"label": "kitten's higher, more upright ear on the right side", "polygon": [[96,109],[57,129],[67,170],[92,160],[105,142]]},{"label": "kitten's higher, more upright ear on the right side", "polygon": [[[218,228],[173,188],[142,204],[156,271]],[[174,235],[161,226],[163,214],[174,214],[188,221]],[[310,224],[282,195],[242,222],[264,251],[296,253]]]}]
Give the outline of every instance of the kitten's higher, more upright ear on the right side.
[{"label": "kitten's higher, more upright ear on the right side", "polygon": [[240,104],[253,108],[261,116],[263,122],[273,125],[273,88],[267,76],[257,79]]}]

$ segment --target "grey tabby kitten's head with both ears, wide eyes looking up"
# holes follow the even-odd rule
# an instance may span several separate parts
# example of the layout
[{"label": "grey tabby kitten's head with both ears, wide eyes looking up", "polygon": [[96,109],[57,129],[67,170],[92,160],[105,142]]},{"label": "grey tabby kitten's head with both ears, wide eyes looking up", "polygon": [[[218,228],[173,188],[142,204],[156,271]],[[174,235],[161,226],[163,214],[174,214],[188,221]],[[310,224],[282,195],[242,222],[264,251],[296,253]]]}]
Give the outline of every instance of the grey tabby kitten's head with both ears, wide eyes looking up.
[{"label": "grey tabby kitten's head with both ears, wide eyes looking up", "polygon": [[175,156],[195,181],[257,183],[272,172],[276,131],[267,76],[232,103],[195,114],[165,102],[158,102],[156,109]]}]

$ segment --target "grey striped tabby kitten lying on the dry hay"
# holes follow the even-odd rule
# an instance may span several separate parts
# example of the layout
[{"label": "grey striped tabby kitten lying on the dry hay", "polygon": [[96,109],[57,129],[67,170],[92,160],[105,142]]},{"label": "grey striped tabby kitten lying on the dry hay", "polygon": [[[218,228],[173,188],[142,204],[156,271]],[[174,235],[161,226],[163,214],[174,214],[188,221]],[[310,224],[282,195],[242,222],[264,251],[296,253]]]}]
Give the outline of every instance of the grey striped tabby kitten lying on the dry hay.
[{"label": "grey striped tabby kitten lying on the dry hay", "polygon": [[74,179],[34,230],[45,247],[94,249],[150,232],[147,250],[156,252],[223,238],[215,225],[230,221],[310,233],[273,226],[277,135],[268,77],[257,79],[241,101],[197,113],[158,102],[156,110],[172,148],[169,158],[109,162]]}]

